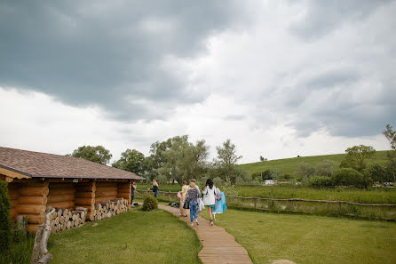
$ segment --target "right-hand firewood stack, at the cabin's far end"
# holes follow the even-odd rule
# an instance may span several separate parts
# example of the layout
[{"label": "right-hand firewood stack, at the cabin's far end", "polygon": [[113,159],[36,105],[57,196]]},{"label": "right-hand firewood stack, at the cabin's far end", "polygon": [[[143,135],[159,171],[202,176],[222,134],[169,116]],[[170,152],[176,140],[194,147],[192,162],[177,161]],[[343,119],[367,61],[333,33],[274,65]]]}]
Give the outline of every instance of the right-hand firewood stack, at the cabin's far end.
[{"label": "right-hand firewood stack, at the cabin's far end", "polygon": [[116,214],[128,211],[128,200],[118,198],[95,204],[94,220],[110,218]]}]

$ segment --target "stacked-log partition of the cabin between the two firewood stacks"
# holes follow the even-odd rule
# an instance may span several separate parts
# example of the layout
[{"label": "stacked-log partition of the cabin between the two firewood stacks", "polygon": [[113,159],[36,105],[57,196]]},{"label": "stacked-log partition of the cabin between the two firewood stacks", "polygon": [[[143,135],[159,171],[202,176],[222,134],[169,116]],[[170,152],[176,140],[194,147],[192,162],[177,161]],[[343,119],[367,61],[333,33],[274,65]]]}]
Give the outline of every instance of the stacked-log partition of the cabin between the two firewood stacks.
[{"label": "stacked-log partition of the cabin between the two firewood stacks", "polygon": [[88,209],[87,219],[93,220],[93,210],[95,210],[96,181],[79,182],[75,186],[75,206]]}]

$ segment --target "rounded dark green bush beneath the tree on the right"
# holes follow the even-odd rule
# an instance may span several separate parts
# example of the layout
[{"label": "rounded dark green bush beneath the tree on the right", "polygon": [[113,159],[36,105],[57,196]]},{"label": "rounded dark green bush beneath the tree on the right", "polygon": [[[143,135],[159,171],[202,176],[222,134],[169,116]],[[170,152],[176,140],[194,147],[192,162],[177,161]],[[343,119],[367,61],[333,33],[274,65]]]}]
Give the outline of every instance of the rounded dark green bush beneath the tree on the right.
[{"label": "rounded dark green bush beneath the tree on the right", "polygon": [[333,184],[338,186],[354,186],[357,188],[368,187],[368,180],[365,179],[363,174],[352,168],[338,170],[334,173],[332,180]]}]

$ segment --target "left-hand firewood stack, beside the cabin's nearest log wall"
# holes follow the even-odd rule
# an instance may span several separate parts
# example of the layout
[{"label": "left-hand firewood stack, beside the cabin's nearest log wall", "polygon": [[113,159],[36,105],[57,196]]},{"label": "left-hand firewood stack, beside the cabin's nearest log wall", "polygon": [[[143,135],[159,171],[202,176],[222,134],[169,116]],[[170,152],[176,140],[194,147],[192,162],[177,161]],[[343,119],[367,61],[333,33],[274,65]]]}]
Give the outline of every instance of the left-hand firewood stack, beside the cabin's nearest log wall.
[{"label": "left-hand firewood stack, beside the cabin's nearest log wall", "polygon": [[51,233],[81,226],[85,223],[86,217],[87,209],[85,207],[76,207],[75,211],[55,208],[55,212],[50,215]]}]

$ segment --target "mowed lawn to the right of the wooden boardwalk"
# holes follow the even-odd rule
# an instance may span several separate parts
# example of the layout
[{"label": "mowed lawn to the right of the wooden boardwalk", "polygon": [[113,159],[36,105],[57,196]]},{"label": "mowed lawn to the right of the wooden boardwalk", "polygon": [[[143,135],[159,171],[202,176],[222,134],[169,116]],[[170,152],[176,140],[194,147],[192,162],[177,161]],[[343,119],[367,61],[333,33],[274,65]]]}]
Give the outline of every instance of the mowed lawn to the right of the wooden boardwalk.
[{"label": "mowed lawn to the right of the wooden boardwalk", "polygon": [[[200,216],[208,219],[208,211]],[[215,223],[246,248],[254,263],[396,263],[394,222],[228,209]]]}]

